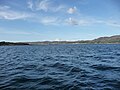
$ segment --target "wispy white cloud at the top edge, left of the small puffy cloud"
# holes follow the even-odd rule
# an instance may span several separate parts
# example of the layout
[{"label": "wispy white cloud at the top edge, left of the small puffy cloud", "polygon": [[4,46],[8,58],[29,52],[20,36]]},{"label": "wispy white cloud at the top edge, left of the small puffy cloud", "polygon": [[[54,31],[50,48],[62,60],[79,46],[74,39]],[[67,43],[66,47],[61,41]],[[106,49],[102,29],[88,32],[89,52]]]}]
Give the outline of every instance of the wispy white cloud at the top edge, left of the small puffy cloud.
[{"label": "wispy white cloud at the top edge, left of the small puffy cloud", "polygon": [[64,10],[64,5],[56,5],[52,0],[28,1],[28,8],[34,11],[58,12]]}]

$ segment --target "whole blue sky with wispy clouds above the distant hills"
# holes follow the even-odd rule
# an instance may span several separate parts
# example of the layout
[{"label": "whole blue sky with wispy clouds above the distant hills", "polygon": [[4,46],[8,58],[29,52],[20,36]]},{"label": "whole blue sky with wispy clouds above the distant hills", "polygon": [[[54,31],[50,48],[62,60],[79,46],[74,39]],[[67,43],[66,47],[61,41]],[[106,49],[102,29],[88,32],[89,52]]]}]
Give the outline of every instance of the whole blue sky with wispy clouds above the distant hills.
[{"label": "whole blue sky with wispy clouds above the distant hills", "polygon": [[91,40],[120,34],[120,0],[0,0],[0,41]]}]

